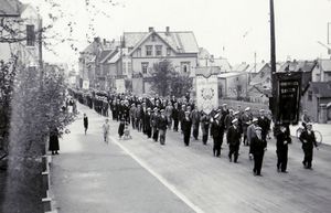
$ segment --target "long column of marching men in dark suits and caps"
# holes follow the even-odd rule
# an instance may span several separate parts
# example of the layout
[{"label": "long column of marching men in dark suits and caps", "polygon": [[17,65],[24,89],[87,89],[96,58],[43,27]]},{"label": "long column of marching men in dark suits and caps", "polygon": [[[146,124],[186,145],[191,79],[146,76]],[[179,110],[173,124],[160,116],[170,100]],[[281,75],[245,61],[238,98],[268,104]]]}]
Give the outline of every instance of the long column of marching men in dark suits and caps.
[{"label": "long column of marching men in dark suits and caps", "polygon": [[[249,147],[248,158],[254,160],[254,175],[261,175],[264,152],[267,149],[271,125],[270,115],[264,109],[260,109],[258,115],[253,115],[249,107],[242,109],[238,106],[237,110],[234,110],[223,104],[206,114],[197,110],[190,97],[161,98],[158,95],[149,98],[126,94],[95,95],[94,98],[83,98],[82,103],[90,106],[89,99],[94,99],[93,106],[98,114],[108,117],[111,111],[113,120],[119,121],[119,137],[122,137],[125,127],[130,125],[132,129],[162,146],[167,141],[167,131],[178,131],[183,136],[184,146],[190,146],[191,138],[197,140],[199,134],[202,132],[203,145],[212,138],[214,157],[221,157],[225,139],[228,145],[228,160],[235,163],[238,162],[239,147],[243,142]],[[317,143],[311,124],[306,126],[305,134],[300,137],[305,152],[302,163],[305,168],[311,169],[312,148]],[[274,136],[277,139],[277,171],[287,173],[288,145],[291,142],[289,126],[277,127]]]}]

